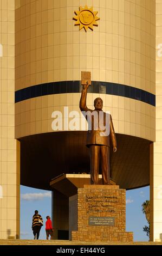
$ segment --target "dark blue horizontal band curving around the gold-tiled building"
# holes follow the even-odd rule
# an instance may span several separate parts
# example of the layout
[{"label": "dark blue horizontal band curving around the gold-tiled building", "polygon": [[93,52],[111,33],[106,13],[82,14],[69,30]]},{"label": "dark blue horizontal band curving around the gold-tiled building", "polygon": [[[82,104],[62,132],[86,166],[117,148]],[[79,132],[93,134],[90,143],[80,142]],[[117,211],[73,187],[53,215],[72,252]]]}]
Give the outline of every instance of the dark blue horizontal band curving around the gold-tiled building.
[{"label": "dark blue horizontal band curving around the gold-tiled building", "polygon": [[[61,93],[80,93],[82,86],[80,81],[63,81],[53,83],[43,83],[37,86],[30,86],[15,92],[15,103],[28,100],[33,97],[45,96]],[[155,106],[155,95],[132,86],[124,84],[92,81],[92,86],[88,88],[88,93],[110,94],[128,97]]]}]

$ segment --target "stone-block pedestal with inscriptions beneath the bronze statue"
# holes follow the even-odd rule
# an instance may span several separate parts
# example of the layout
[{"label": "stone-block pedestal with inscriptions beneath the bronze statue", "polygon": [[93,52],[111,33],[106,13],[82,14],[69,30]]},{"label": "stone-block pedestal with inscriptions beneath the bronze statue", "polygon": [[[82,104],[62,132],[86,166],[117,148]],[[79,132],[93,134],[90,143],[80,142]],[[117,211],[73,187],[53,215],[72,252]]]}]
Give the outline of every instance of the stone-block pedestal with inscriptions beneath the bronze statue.
[{"label": "stone-block pedestal with inscriptions beneath the bronze statue", "polygon": [[133,242],[126,232],[126,193],[113,185],[85,185],[77,193],[77,228],[72,240]]}]

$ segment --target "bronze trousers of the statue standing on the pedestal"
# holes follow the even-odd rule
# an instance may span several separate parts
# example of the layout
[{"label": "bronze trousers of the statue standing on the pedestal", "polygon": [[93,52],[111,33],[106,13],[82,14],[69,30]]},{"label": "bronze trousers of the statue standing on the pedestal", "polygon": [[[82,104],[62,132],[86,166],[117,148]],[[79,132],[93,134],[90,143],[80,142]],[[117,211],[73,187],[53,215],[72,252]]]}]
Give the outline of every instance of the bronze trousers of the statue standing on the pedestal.
[{"label": "bronze trousers of the statue standing on the pedestal", "polygon": [[99,183],[99,161],[104,185],[111,185],[109,174],[109,147],[90,145],[90,184]]}]

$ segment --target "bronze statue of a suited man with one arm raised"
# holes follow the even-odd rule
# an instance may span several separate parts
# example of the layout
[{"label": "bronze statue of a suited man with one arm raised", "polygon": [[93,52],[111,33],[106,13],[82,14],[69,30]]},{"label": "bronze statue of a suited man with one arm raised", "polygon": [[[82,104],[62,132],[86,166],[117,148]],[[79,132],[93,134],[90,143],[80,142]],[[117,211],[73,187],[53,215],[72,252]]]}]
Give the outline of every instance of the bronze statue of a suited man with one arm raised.
[{"label": "bronze statue of a suited man with one arm raised", "polygon": [[[110,182],[110,167],[109,167],[109,153],[110,153],[110,139],[113,145],[113,151],[116,152],[116,136],[114,132],[113,122],[111,115],[102,111],[103,101],[101,98],[96,98],[94,100],[95,109],[89,109],[86,105],[87,99],[87,89],[89,84],[83,85],[83,90],[80,99],[80,110],[86,113],[91,113],[91,123],[89,129],[88,122],[88,132],[87,132],[87,147],[90,152],[90,184],[98,184],[99,182],[99,164],[102,172],[102,183],[104,185],[111,185]],[[100,113],[102,112],[102,113]],[[102,114],[103,124],[108,125],[109,132],[104,133],[105,130],[100,128],[99,117]],[[109,115],[109,121],[106,122],[106,116]],[[87,114],[86,114],[87,119]],[[96,128],[96,125],[98,127]],[[104,127],[104,126],[102,126]]]}]

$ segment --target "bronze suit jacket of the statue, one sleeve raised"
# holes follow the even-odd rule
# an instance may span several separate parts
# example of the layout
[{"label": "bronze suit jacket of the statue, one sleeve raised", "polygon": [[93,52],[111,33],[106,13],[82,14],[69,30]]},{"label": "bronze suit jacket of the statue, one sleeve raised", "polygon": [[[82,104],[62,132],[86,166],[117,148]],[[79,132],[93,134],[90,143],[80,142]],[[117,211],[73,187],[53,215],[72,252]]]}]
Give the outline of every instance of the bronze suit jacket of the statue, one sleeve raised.
[{"label": "bronze suit jacket of the statue, one sleeve raised", "polygon": [[[109,125],[109,135],[108,136],[100,136],[102,132],[105,132],[104,130],[99,129],[94,130],[95,124],[99,124],[99,112],[97,110],[92,110],[87,108],[86,106],[86,96],[87,96],[87,91],[82,91],[81,95],[81,100],[80,100],[80,110],[85,111],[85,112],[90,112],[92,113],[92,121],[91,121],[91,129],[88,129],[87,132],[87,147],[90,145],[106,145],[107,147],[110,147],[110,140],[112,142],[113,147],[116,147],[116,136],[115,136],[115,131],[113,127],[113,121],[112,117],[110,114],[102,112],[103,113],[103,125],[106,125],[106,115],[108,118],[107,125]],[[95,114],[94,112],[97,112],[98,114]],[[94,115],[93,115],[94,113]],[[108,116],[109,115],[109,116]],[[86,115],[87,119],[88,115]],[[99,126],[99,125],[98,125]]]}]

